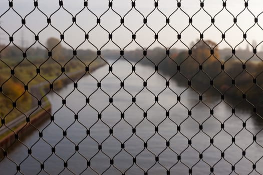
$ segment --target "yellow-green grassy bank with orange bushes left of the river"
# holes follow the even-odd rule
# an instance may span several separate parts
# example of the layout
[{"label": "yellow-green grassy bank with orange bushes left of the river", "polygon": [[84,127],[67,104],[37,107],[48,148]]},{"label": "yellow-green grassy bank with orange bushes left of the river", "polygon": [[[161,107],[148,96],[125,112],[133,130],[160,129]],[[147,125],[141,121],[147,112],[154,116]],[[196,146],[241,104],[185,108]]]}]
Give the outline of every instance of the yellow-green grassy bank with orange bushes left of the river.
[{"label": "yellow-green grassy bank with orange bushes left of the river", "polygon": [[[36,69],[34,65],[21,63],[15,68],[15,74],[10,74],[10,68],[0,69],[0,117],[8,123],[38,106],[38,101],[47,101],[46,93],[50,90],[59,90],[65,84],[80,79],[88,74],[86,65],[81,61],[73,60],[61,65],[46,63]],[[104,65],[103,61],[95,61],[90,64],[89,71]],[[37,70],[37,71],[36,71]]]}]

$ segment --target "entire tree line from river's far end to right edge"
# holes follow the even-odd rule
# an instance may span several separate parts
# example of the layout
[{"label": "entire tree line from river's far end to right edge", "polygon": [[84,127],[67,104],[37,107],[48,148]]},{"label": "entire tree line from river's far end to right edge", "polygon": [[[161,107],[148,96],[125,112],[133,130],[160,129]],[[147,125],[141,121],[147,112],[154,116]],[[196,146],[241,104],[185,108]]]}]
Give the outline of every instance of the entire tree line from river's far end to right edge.
[{"label": "entire tree line from river's far end to right edge", "polygon": [[[197,40],[189,50],[172,48],[169,54],[160,47],[147,49],[146,53],[143,49],[124,50],[121,59],[158,66],[158,71],[176,80],[178,85],[189,86],[190,81],[191,88],[200,95],[217,96],[217,99],[224,95],[232,107],[246,103],[248,108],[262,108],[262,52],[255,54],[246,48],[232,53],[232,49],[218,49],[211,40]],[[108,50],[105,56],[120,57],[119,52]]]}]

